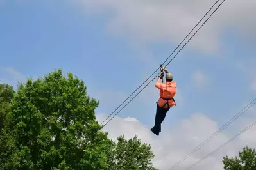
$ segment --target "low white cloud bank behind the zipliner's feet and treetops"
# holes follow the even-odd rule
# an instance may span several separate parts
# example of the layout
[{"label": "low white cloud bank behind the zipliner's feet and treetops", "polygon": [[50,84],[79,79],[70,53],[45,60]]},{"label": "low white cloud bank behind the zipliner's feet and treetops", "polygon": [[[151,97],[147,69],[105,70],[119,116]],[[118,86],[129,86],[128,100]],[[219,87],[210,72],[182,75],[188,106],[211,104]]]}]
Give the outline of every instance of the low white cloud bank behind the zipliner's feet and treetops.
[{"label": "low white cloud bank behind the zipliner's feet and treetops", "polygon": [[[98,114],[97,116],[99,121],[102,121],[104,118],[105,116],[103,114]],[[249,122],[247,122],[246,126],[249,125],[248,123]],[[116,139],[119,135],[123,134],[126,139],[138,135],[143,143],[151,144],[152,150],[155,153],[153,160],[154,166],[159,169],[167,169],[188,155],[198,144],[202,143],[216,132],[219,126],[220,125],[204,114],[192,114],[190,118],[180,121],[175,128],[163,129],[157,137],[151,133],[150,127],[142,125],[142,123],[135,118],[119,118],[116,116],[103,128],[103,131],[108,132],[109,137],[112,139]],[[192,169],[223,169],[221,160],[225,155],[237,155],[246,144],[255,146],[252,145],[255,141],[255,137],[253,137],[254,132],[253,128],[248,130],[248,132],[241,135],[237,140],[227,144],[224,148],[217,151],[206,160],[203,160]],[[200,158],[205,157],[205,155],[208,155],[211,151],[228,141],[228,139],[229,137],[221,132],[175,169],[182,170],[191,166],[200,160]]]}]

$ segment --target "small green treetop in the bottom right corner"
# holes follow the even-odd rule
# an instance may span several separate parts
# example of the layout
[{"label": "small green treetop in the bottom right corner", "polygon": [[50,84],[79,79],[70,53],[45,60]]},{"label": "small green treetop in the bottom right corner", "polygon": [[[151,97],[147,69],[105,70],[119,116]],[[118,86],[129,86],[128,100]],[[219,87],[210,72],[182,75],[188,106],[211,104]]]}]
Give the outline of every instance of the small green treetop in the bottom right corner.
[{"label": "small green treetop in the bottom right corner", "polygon": [[246,146],[243,151],[239,152],[239,157],[228,156],[223,157],[223,164],[225,170],[254,170],[256,169],[256,152],[255,149]]}]

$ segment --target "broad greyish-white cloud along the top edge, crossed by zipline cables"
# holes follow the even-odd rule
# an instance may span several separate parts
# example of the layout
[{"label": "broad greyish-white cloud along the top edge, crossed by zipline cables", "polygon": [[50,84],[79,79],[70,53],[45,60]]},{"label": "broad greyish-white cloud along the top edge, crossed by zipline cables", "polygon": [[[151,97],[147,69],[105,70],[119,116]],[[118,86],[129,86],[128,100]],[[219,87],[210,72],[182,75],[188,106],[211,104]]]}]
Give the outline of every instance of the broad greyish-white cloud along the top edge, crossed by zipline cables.
[{"label": "broad greyish-white cloud along the top edge, crossed by zipline cables", "polygon": [[[107,16],[106,28],[113,35],[124,36],[133,44],[147,44],[162,41],[180,42],[215,0],[161,2],[77,0],[76,2],[80,6],[82,4],[88,14]],[[189,45],[203,52],[216,52],[221,37],[230,29],[237,31],[246,39],[247,37],[253,39],[256,36],[255,5],[254,0],[225,1]]]}]

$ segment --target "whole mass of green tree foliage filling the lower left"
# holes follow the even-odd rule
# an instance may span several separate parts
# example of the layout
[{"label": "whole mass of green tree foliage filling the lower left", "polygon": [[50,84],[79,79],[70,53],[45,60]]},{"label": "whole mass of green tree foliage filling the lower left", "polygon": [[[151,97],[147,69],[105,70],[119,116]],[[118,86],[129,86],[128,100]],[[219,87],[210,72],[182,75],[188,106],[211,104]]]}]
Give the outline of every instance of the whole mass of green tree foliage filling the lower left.
[{"label": "whole mass of green tree foliage filling the lower left", "polygon": [[153,169],[153,152],[135,138],[108,139],[96,121],[99,102],[83,81],[55,70],[14,93],[1,85],[1,169]]}]

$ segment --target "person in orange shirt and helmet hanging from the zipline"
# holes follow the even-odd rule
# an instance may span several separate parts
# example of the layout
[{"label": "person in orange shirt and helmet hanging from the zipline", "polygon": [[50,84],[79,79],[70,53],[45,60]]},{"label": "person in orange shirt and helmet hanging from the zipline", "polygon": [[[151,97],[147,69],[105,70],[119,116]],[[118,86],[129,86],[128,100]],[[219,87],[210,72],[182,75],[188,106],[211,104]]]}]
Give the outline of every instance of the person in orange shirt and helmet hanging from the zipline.
[{"label": "person in orange shirt and helmet hanging from the zipline", "polygon": [[[159,135],[161,132],[161,124],[164,121],[164,118],[166,118],[166,113],[171,107],[176,105],[173,98],[176,95],[176,82],[173,81],[173,75],[171,75],[166,68],[162,68],[162,65],[160,65],[160,69],[161,73],[155,83],[155,87],[160,89],[160,98],[157,102],[155,126],[151,128],[151,131],[156,135]],[[164,72],[166,72],[166,82],[161,83],[160,80],[163,79]]]}]

